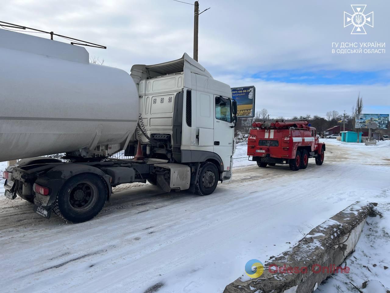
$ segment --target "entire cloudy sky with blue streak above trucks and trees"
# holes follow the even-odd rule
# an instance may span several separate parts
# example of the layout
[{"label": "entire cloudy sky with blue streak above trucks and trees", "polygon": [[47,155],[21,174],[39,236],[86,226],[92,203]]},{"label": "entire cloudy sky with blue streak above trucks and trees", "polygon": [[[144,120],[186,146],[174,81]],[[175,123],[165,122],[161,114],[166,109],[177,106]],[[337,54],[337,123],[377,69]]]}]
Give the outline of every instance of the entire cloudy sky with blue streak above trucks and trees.
[{"label": "entire cloudy sky with blue streak above trucks and trees", "polygon": [[[363,2],[363,14],[374,11],[366,35],[344,28],[352,0],[200,0],[200,11],[211,9],[199,17],[199,62],[231,87],[255,85],[256,110],[271,116],[351,113],[359,92],[363,112],[388,114],[390,1]],[[193,52],[193,5],[174,0],[2,1],[0,20],[105,45],[87,50],[126,71]],[[332,54],[333,42],[389,52]]]}]

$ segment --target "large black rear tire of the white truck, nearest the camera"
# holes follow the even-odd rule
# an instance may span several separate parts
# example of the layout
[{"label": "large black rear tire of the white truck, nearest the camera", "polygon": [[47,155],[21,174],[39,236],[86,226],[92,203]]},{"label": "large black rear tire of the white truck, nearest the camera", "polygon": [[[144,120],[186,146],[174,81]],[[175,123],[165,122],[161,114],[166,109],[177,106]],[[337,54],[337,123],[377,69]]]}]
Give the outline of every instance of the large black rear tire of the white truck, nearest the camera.
[{"label": "large black rear tire of the white truck, nearest the camera", "polygon": [[107,199],[107,186],[98,175],[83,173],[68,179],[57,194],[53,211],[62,219],[81,223],[96,216]]}]

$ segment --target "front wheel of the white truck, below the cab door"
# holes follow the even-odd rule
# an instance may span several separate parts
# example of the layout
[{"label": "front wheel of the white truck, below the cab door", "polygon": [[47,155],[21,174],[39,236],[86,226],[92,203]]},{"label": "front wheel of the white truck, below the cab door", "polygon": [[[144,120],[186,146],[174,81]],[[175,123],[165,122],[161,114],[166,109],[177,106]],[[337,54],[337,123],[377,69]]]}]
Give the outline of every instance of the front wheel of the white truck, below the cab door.
[{"label": "front wheel of the white truck, below the cab door", "polygon": [[195,193],[209,195],[214,192],[218,184],[219,173],[215,164],[206,162],[200,165],[198,178],[195,184]]}]

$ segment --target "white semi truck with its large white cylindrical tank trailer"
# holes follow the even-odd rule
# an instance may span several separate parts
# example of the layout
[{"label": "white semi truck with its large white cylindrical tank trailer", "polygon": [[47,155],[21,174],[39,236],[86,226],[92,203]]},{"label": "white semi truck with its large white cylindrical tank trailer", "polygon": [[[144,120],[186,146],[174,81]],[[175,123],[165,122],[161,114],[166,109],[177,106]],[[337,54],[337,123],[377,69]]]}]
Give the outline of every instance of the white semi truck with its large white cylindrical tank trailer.
[{"label": "white semi truck with its large white cylindrical tank trailer", "polygon": [[[19,160],[5,196],[46,218],[90,220],[123,183],[209,195],[232,178],[237,104],[187,54],[129,75],[90,64],[83,47],[0,29],[0,89],[0,161]],[[111,157],[137,146],[140,160]]]}]

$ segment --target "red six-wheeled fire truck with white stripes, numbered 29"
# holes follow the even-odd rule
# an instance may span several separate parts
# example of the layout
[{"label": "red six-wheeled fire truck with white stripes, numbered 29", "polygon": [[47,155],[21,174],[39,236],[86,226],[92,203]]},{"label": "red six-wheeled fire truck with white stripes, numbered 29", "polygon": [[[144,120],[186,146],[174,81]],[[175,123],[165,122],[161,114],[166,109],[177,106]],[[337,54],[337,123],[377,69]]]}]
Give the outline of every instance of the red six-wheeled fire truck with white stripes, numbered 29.
[{"label": "red six-wheeled fire truck with white stripes, numbered 29", "polygon": [[324,162],[325,144],[307,120],[268,120],[252,123],[248,135],[248,156],[259,167],[289,164],[290,169],[306,169],[309,158]]}]

